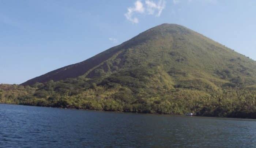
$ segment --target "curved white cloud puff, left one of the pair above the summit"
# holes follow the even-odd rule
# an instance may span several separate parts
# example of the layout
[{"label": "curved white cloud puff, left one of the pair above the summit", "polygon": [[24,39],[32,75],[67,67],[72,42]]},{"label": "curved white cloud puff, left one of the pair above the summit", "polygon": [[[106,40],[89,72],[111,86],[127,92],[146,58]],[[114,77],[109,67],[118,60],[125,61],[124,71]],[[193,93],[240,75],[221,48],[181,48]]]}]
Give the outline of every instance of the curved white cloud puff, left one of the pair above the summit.
[{"label": "curved white cloud puff, left one of the pair above the summit", "polygon": [[132,23],[139,23],[139,19],[136,17],[133,17],[133,14],[135,12],[138,12],[141,14],[144,13],[144,6],[143,6],[142,2],[137,0],[134,3],[134,7],[129,7],[127,10],[128,10],[128,12],[126,14],[124,14],[126,19],[131,21]]}]

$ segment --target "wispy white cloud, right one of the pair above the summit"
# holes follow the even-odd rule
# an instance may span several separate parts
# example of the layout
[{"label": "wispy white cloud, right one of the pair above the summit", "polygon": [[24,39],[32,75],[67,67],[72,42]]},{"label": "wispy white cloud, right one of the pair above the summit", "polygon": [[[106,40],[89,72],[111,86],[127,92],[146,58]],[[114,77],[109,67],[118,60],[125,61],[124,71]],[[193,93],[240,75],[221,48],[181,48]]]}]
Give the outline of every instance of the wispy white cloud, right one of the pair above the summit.
[{"label": "wispy white cloud, right one of the pair above the summit", "polygon": [[165,0],[159,0],[158,4],[156,4],[154,1],[146,0],[145,1],[147,5],[147,12],[150,15],[154,15],[155,11],[158,11],[155,16],[159,17],[165,8]]}]

